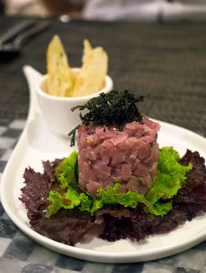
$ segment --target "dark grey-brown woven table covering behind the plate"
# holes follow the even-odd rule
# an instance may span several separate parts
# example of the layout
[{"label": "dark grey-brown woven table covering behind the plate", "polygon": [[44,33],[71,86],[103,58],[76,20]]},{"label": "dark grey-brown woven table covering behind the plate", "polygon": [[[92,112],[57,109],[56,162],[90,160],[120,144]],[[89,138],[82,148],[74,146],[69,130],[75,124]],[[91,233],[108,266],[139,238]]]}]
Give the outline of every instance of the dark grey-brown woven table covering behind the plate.
[{"label": "dark grey-brown woven table covering behind the plate", "polygon": [[[19,19],[0,18],[0,34]],[[0,116],[25,118],[28,86],[22,66],[46,71],[48,42],[58,34],[71,67],[81,66],[82,41],[102,45],[109,56],[108,74],[117,89],[151,93],[141,113],[206,135],[206,25],[104,22],[52,22],[28,43],[21,55],[0,63]]]}]

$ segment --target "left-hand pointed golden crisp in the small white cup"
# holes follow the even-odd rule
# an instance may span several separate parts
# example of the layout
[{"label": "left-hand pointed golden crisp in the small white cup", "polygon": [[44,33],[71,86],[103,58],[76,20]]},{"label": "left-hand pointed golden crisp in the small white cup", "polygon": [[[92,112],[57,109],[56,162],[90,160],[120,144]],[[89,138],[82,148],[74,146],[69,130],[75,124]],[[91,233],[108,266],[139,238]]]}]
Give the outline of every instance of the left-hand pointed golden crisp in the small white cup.
[{"label": "left-hand pointed golden crisp in the small white cup", "polygon": [[71,96],[76,76],[69,67],[65,49],[58,35],[55,35],[47,49],[47,88],[53,96]]}]

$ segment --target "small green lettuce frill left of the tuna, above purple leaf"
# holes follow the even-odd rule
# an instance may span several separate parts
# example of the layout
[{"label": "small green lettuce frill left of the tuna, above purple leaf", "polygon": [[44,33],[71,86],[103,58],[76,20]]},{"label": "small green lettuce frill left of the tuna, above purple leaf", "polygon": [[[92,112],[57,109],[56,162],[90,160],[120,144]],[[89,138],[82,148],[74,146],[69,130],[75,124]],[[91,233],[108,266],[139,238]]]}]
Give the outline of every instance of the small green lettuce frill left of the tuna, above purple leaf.
[{"label": "small green lettuce frill left of the tuna, above purple leaf", "polygon": [[65,158],[59,166],[55,169],[55,176],[60,183],[60,187],[68,188],[70,182],[75,181],[75,175],[78,170],[77,164],[78,153],[75,151],[70,154],[69,157]]}]

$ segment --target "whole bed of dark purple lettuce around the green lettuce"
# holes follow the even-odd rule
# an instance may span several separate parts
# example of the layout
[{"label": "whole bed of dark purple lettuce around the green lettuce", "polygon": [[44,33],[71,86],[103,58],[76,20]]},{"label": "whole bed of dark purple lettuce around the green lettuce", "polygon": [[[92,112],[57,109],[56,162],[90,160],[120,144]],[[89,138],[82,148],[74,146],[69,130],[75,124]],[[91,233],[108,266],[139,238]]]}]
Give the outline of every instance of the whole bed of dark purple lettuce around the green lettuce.
[{"label": "whole bed of dark purple lettuce around the green lettuce", "polygon": [[59,187],[54,173],[60,162],[61,160],[43,162],[44,174],[36,173],[30,167],[26,169],[24,174],[26,185],[22,188],[22,197],[19,198],[28,209],[27,215],[32,229],[52,240],[75,245],[94,225],[104,222],[105,229],[100,238],[108,241],[121,238],[139,241],[149,234],[169,232],[179,223],[191,221],[198,212],[206,212],[204,159],[198,152],[192,153],[187,150],[178,162],[183,166],[188,166],[191,162],[193,168],[186,173],[186,183],[172,199],[173,209],[163,217],[145,213],[144,204],[138,203],[135,209],[122,205],[105,205],[95,212],[94,217],[77,207],[72,210],[62,208],[48,219],[45,217],[49,205],[47,197],[52,188]]}]

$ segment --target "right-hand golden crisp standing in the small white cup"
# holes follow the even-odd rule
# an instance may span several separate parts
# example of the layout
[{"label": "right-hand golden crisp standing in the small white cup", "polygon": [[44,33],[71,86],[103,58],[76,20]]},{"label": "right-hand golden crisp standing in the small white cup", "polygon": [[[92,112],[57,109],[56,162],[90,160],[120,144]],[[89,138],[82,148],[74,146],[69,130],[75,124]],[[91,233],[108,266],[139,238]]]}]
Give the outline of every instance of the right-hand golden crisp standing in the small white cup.
[{"label": "right-hand golden crisp standing in the small white cup", "polygon": [[73,96],[97,93],[105,85],[108,71],[108,56],[101,46],[94,49],[88,40],[84,41],[83,65],[77,76]]}]

